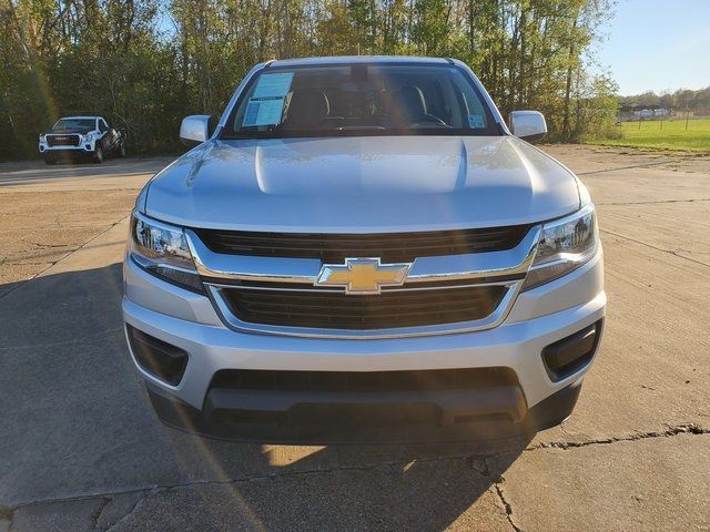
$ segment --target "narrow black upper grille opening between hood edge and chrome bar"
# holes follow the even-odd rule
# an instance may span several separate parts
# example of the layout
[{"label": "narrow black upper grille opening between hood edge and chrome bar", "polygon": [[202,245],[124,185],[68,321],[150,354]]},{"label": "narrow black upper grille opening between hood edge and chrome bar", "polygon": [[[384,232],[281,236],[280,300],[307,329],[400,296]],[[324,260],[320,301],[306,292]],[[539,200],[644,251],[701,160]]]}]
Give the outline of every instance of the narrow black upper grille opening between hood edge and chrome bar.
[{"label": "narrow black upper grille opening between hood edge and chrome bar", "polygon": [[311,233],[247,233],[194,229],[215,253],[265,257],[320,258],[381,257],[383,262],[412,262],[417,257],[498,252],[517,246],[530,225],[483,229],[383,233],[368,235]]}]

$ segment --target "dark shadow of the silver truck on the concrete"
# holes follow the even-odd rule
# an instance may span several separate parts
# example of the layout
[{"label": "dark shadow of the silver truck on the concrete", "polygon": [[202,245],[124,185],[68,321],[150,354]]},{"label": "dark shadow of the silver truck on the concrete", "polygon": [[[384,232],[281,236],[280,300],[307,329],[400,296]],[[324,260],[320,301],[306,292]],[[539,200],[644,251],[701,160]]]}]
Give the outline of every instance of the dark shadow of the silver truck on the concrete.
[{"label": "dark shadow of the silver truck on the concrete", "polygon": [[306,447],[183,433],[159,422],[128,355],[119,264],[3,288],[0,504],[140,493],[135,519],[182,530],[505,524],[494,484],[531,436]]}]

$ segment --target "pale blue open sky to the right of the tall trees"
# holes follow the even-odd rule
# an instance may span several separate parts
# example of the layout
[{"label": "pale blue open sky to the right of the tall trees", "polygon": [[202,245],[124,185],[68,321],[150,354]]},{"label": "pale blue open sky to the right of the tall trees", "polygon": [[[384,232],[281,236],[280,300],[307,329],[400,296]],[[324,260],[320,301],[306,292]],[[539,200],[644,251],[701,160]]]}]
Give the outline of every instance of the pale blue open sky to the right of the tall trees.
[{"label": "pale blue open sky to the right of the tall trees", "polygon": [[710,0],[618,0],[597,60],[622,95],[710,85]]}]

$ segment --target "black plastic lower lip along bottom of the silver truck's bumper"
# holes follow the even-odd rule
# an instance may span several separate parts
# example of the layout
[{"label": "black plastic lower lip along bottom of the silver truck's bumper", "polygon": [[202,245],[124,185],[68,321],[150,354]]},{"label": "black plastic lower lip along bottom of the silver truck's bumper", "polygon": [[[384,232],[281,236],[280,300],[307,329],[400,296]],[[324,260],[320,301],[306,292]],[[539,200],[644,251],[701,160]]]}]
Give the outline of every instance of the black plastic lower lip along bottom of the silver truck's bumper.
[{"label": "black plastic lower lip along bottom of the silver truck's bumper", "polygon": [[[383,409],[382,402],[372,406],[362,402],[337,405],[329,410],[331,417],[327,417],[327,409],[323,416],[322,410],[305,408],[287,418],[274,418],[273,421],[260,416],[263,410],[252,410],[239,421],[233,421],[197,410],[154,385],[148,383],[146,388],[161,421],[174,429],[210,438],[248,442],[332,444],[498,440],[534,434],[559,424],[570,416],[581,391],[581,383],[580,379],[541,400],[528,409],[519,422],[490,418],[460,424],[432,424],[422,422],[420,416],[419,422],[410,418],[406,422],[402,422],[402,419],[387,420],[382,417],[373,419],[373,415]],[[471,399],[478,398],[474,395]],[[312,397],[304,399],[312,400]],[[417,402],[414,409],[426,410],[426,406]],[[243,411],[242,406],[236,410]],[[412,409],[397,410],[403,411],[412,412]],[[333,422],[334,416],[337,416],[336,422]]]}]

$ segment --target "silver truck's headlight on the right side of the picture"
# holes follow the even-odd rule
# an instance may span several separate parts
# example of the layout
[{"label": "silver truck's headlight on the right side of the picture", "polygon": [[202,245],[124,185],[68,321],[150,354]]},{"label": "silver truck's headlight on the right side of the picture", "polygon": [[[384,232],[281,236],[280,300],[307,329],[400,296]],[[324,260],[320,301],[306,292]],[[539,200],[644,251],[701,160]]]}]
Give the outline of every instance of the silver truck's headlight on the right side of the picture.
[{"label": "silver truck's headlight on the right side of the picture", "polygon": [[598,246],[597,216],[592,204],[545,224],[524,289],[569,274],[594,257]]}]

